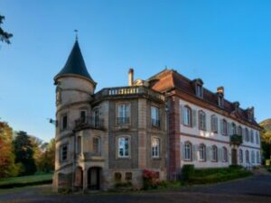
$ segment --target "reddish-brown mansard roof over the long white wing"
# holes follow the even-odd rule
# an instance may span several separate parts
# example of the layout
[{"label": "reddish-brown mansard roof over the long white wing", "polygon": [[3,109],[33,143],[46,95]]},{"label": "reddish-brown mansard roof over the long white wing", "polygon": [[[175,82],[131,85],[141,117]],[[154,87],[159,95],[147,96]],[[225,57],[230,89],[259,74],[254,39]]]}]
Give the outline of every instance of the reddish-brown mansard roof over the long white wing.
[{"label": "reddish-brown mansard roof over the long white wing", "polygon": [[[164,69],[153,77],[149,78],[148,81],[150,83],[150,86],[156,91],[165,92],[167,90],[176,88],[192,95],[193,97],[201,99],[212,106],[220,107],[218,106],[217,93],[211,92],[207,88],[203,88],[203,98],[197,97],[193,85],[193,80],[182,76],[176,70]],[[238,107],[238,109],[236,110],[234,103],[229,102],[225,98],[224,106],[220,107],[220,109],[226,111],[229,115],[232,115],[238,119],[244,120],[252,125],[257,125],[257,122],[254,119],[248,119],[248,109],[242,109]],[[259,125],[257,125],[257,127],[259,127]]]}]

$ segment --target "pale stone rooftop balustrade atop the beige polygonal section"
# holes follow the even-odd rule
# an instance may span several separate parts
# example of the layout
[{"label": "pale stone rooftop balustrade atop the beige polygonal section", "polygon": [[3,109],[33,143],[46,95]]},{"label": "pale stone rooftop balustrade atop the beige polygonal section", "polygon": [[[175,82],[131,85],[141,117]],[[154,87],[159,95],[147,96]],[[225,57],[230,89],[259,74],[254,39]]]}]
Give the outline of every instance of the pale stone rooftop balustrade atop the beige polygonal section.
[{"label": "pale stone rooftop balustrade atop the beige polygonal section", "polygon": [[115,97],[147,97],[158,102],[164,102],[164,94],[154,91],[153,89],[138,86],[138,87],[123,87],[123,88],[103,88],[95,94],[95,100],[99,101],[105,98]]}]

